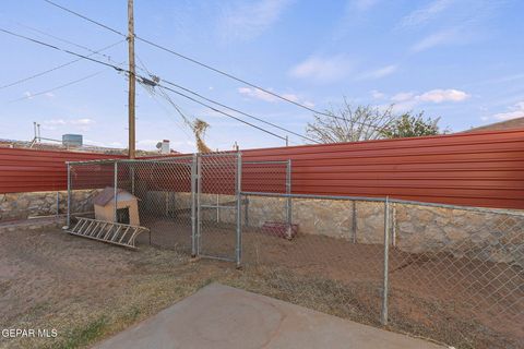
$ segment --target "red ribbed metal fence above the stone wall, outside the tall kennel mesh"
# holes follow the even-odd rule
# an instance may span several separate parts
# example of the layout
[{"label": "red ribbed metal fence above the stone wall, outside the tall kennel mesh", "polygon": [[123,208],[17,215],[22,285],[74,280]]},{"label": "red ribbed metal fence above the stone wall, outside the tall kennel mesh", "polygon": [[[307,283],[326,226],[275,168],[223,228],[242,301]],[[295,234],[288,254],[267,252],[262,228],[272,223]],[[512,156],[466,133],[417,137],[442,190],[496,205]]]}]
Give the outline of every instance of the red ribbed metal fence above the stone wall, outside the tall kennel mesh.
[{"label": "red ribbed metal fence above the stone wall, outside the tall kennel mesh", "polygon": [[[63,190],[67,160],[107,158],[119,157],[0,148],[0,193]],[[242,159],[290,159],[293,193],[389,195],[524,209],[524,130],[247,149]],[[246,168],[242,190],[260,186],[260,178],[270,185],[263,171]],[[282,178],[275,179],[275,185],[282,186]]]}]

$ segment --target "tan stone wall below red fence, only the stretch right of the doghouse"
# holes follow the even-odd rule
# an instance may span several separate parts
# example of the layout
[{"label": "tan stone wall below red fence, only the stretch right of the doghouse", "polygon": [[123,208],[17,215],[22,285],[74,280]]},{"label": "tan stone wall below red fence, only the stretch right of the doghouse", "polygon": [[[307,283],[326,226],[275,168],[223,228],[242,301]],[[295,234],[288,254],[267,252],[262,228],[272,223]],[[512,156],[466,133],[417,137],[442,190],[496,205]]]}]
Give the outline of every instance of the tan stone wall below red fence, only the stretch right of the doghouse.
[{"label": "tan stone wall below red fence, only the stretch right of the doghouse", "polygon": [[[189,194],[177,193],[176,197],[189,205]],[[219,196],[221,202],[234,198]],[[201,201],[216,203],[216,195],[201,195]],[[384,203],[294,198],[291,205],[299,233],[366,244],[384,241]],[[250,196],[242,216],[248,229],[266,221],[285,221],[286,198]],[[206,209],[202,217],[216,220],[216,210]],[[235,222],[234,210],[222,210],[219,219]],[[389,227],[391,243],[404,252],[448,253],[524,266],[524,216],[392,203]]]}]

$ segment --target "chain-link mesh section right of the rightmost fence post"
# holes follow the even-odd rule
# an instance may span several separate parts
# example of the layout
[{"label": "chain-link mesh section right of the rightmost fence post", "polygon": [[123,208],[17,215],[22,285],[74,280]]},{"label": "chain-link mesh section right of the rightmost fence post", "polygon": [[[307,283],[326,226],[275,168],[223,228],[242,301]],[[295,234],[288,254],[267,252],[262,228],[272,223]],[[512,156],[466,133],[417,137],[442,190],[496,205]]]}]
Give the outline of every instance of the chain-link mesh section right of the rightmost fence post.
[{"label": "chain-link mesh section right of the rightmost fence post", "polygon": [[392,212],[390,322],[524,345],[524,215],[416,204]]}]

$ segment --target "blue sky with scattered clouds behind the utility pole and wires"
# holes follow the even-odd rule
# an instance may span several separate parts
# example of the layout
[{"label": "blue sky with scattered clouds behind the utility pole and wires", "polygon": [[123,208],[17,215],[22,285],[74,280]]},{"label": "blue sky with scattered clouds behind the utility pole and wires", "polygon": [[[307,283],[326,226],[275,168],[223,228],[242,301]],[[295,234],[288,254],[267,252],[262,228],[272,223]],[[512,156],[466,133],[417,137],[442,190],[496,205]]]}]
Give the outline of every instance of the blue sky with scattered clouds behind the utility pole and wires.
[{"label": "blue sky with scattered clouds behind the utility pole and wires", "polygon": [[[127,32],[126,0],[55,0]],[[425,111],[462,131],[524,117],[524,1],[520,0],[135,0],[135,33],[315,110],[352,105]],[[123,38],[43,0],[2,0],[0,28],[93,58],[127,64]],[[80,133],[91,145],[126,147],[128,82],[122,73],[0,33],[0,139]],[[139,73],[303,134],[312,112],[136,41]],[[110,59],[110,60],[109,60]],[[81,80],[79,82],[79,80]],[[66,86],[64,86],[66,85]],[[63,87],[61,87],[63,86]],[[57,88],[61,87],[61,88]],[[136,86],[136,147],[194,139],[169,103]],[[167,92],[169,94],[169,92]],[[211,128],[213,149],[285,145],[175,94],[174,103]],[[245,117],[238,116],[246,119]],[[246,119],[247,121],[249,119]],[[249,120],[251,121],[251,120]],[[286,132],[260,124],[286,136]],[[290,144],[303,140],[289,135]]]}]

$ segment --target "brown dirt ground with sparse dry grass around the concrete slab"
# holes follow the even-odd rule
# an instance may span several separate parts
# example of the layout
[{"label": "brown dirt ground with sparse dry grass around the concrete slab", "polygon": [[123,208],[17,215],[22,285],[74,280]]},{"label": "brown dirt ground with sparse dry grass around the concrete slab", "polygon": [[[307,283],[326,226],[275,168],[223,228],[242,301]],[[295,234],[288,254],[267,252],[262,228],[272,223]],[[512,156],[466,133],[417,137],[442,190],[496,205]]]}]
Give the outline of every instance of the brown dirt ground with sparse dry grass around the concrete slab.
[{"label": "brown dirt ground with sparse dry grass around the concrete slab", "polygon": [[[207,232],[211,236],[205,237],[205,233],[204,230],[204,246],[218,246],[226,241],[216,251],[210,250],[211,253],[233,255],[230,230],[225,229],[224,236]],[[187,248],[187,234],[181,239]],[[211,281],[379,326],[382,246],[346,244],[311,236],[287,241],[249,231],[243,239],[246,267],[237,270],[231,263],[190,262],[187,254],[146,244],[140,244],[135,252],[72,237],[58,229],[1,233],[0,328],[55,328],[58,336],[0,337],[0,348],[88,347]],[[515,322],[493,324],[486,318],[489,312],[472,315],[473,301],[468,297],[474,294],[475,304],[481,304],[478,302],[483,296],[492,292],[457,292],[449,288],[456,284],[456,275],[449,266],[443,268],[442,263],[410,261],[409,256],[395,252],[391,261],[394,272],[390,329],[456,348],[524,346],[519,308]],[[457,264],[456,270],[466,267]],[[436,280],[436,275],[442,279]],[[436,292],[434,287],[428,287],[431,282],[427,279],[448,291]],[[464,280],[462,284],[468,285]],[[484,290],[478,285],[477,289]],[[489,311],[497,313],[497,306],[505,310],[507,303],[522,306],[522,298],[499,300]]]}]

